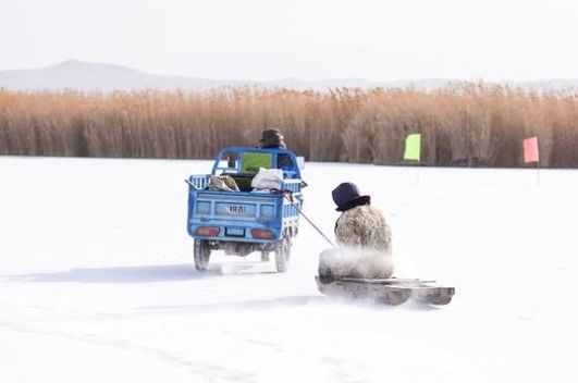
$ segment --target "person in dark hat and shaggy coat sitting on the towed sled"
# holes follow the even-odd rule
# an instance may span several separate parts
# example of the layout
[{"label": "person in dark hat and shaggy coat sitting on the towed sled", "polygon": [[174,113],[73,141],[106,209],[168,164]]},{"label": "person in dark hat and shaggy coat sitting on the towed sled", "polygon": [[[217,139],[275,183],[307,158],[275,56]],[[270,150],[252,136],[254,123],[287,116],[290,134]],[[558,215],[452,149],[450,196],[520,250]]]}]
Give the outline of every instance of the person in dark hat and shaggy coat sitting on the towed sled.
[{"label": "person in dark hat and shaggy coat sitting on the towed sled", "polygon": [[388,279],[393,274],[391,230],[371,197],[362,196],[354,183],[340,184],[332,192],[342,214],[335,222],[337,248],[319,256],[319,277]]}]

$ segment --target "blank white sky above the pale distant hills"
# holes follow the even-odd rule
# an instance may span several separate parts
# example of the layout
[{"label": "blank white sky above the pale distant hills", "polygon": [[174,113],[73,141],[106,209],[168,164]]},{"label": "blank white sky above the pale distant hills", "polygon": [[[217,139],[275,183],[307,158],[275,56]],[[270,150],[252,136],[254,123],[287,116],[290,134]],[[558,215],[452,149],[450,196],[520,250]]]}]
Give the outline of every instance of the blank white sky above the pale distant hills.
[{"label": "blank white sky above the pale distant hills", "polygon": [[576,0],[0,0],[0,71],[216,79],[578,78]]}]

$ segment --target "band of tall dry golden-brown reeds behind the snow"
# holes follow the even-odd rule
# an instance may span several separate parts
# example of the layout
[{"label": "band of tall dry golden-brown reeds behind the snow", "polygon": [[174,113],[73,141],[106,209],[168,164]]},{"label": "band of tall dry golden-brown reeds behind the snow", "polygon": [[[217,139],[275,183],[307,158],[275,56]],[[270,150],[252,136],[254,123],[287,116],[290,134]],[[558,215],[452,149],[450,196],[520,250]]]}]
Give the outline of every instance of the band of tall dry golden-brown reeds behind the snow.
[{"label": "band of tall dry golden-brown reeds behind the snow", "polygon": [[538,136],[540,166],[577,168],[578,95],[469,85],[436,91],[241,88],[209,92],[0,90],[0,155],[212,158],[257,145],[267,127],[309,161],[402,164],[421,133],[425,165],[522,166]]}]

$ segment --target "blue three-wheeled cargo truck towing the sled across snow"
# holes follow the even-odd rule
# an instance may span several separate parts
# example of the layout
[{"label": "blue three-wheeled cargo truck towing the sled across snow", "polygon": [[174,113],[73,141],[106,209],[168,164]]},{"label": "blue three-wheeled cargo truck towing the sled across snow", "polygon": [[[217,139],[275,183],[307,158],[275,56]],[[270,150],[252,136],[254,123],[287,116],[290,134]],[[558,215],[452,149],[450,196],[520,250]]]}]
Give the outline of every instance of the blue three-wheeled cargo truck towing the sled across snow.
[{"label": "blue three-wheeled cargo truck towing the sled across snow", "polygon": [[[187,231],[195,239],[196,269],[207,269],[212,250],[241,257],[260,251],[262,261],[274,252],[278,272],[285,272],[304,201],[299,168],[291,150],[226,147],[217,155],[211,174],[190,175]],[[251,186],[261,169],[281,170],[279,187]],[[234,180],[238,192],[211,187],[223,176]]]}]

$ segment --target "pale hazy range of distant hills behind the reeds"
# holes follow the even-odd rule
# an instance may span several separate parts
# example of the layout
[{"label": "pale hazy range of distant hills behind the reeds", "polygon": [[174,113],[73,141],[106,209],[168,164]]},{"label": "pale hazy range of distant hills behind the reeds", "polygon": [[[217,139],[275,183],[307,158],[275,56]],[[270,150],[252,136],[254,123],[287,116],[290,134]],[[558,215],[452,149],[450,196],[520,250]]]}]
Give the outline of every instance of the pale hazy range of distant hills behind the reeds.
[{"label": "pale hazy range of distant hills behind the reeds", "polygon": [[[12,90],[58,90],[77,89],[84,91],[114,89],[184,89],[208,90],[222,87],[262,86],[267,88],[317,89],[336,87],[356,88],[407,88],[434,90],[450,84],[464,82],[447,78],[430,78],[396,82],[374,82],[366,78],[318,79],[281,78],[268,82],[249,82],[237,79],[210,79],[202,77],[156,75],[131,67],[113,64],[90,63],[76,60],[56,65],[19,71],[0,71],[0,88]],[[568,90],[578,89],[578,81],[551,79],[540,82],[503,83],[527,90]]]}]

